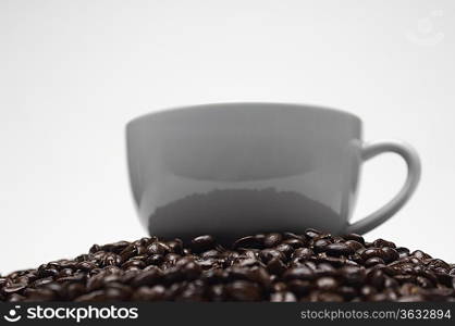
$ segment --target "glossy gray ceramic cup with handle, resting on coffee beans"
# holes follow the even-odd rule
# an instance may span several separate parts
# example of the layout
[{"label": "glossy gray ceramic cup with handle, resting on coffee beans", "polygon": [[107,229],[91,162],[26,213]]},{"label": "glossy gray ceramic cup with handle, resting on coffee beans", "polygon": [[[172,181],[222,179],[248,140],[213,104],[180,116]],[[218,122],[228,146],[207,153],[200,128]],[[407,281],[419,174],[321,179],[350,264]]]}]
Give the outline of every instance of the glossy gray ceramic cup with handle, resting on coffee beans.
[{"label": "glossy gray ceramic cup with handle, resting on coffee beans", "polygon": [[[229,241],[267,231],[364,234],[415,191],[420,161],[401,141],[364,142],[361,121],[333,109],[217,103],[170,109],[127,124],[134,201],[144,226],[164,238],[211,234]],[[349,223],[360,167],[394,152],[408,167],[384,206]]]}]

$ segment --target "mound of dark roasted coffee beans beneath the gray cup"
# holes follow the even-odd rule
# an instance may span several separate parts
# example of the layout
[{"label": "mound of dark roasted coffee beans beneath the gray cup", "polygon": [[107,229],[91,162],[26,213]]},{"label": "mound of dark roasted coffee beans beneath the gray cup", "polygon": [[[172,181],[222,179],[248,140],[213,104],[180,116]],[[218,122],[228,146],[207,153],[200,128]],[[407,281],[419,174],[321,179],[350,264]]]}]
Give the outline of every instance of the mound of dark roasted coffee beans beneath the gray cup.
[{"label": "mound of dark roasted coffee beans beneath the gray cup", "polygon": [[455,301],[455,264],[383,239],[315,229],[94,244],[0,276],[0,301]]}]

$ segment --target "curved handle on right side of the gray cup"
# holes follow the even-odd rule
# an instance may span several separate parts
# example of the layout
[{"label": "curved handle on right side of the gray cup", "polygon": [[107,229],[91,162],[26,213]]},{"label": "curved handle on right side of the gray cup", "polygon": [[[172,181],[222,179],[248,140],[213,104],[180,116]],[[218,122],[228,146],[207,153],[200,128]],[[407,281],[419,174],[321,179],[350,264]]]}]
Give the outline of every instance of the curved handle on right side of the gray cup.
[{"label": "curved handle on right side of the gray cup", "polygon": [[407,143],[397,140],[381,140],[364,143],[361,147],[361,160],[366,161],[385,153],[393,152],[401,155],[407,164],[407,178],[399,192],[385,205],[371,213],[367,217],[349,224],[346,233],[365,234],[392,217],[409,200],[420,180],[421,164],[416,150]]}]

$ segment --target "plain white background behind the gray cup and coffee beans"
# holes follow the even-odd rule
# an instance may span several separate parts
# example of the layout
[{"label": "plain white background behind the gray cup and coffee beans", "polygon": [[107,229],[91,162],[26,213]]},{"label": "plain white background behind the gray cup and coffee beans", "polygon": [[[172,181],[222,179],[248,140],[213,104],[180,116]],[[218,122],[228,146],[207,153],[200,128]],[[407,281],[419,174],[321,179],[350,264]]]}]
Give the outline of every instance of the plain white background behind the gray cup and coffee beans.
[{"label": "plain white background behind the gray cup and coffee beans", "polygon": [[[351,111],[421,154],[422,180],[367,235],[455,262],[455,2],[0,1],[0,273],[145,236],[124,125],[165,106],[288,101]],[[364,170],[356,218],[401,187]]]}]

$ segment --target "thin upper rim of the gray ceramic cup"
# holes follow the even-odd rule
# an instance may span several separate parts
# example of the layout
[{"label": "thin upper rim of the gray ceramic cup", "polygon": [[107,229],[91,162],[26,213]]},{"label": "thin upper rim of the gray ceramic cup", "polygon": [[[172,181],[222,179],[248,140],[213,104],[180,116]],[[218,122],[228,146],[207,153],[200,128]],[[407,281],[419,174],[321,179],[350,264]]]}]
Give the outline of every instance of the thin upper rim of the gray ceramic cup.
[{"label": "thin upper rim of the gray ceramic cup", "polygon": [[302,108],[306,110],[318,110],[318,111],[325,111],[331,113],[336,113],[341,115],[349,116],[351,118],[357,121],[359,124],[361,124],[361,118],[354,113],[351,113],[348,111],[334,109],[330,106],[324,105],[318,105],[318,104],[308,104],[308,103],[297,103],[297,102],[257,102],[257,101],[245,101],[245,102],[210,102],[210,103],[202,103],[202,104],[190,104],[190,105],[177,105],[177,106],[170,106],[170,108],[162,108],[158,109],[156,111],[142,114],[139,116],[136,116],[132,120],[130,120],[126,123],[126,128],[132,126],[133,124],[144,120],[144,118],[150,118],[157,115],[162,115],[167,113],[172,112],[179,112],[184,110],[193,110],[193,109],[208,109],[208,108],[216,108],[216,106],[225,106],[225,105],[245,105],[245,106],[256,106],[256,105],[282,105],[282,106],[288,106],[288,108]]}]

